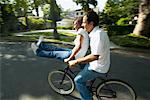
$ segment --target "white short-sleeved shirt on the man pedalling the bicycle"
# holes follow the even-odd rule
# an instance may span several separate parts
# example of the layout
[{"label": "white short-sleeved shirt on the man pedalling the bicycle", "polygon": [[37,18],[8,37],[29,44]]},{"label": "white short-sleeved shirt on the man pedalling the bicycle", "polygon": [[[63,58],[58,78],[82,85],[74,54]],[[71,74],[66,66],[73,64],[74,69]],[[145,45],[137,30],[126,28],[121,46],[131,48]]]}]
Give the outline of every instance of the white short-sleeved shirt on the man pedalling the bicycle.
[{"label": "white short-sleeved shirt on the man pedalling the bicycle", "polygon": [[96,26],[89,34],[91,54],[99,55],[98,60],[90,62],[89,69],[107,73],[110,67],[110,44],[106,32]]}]

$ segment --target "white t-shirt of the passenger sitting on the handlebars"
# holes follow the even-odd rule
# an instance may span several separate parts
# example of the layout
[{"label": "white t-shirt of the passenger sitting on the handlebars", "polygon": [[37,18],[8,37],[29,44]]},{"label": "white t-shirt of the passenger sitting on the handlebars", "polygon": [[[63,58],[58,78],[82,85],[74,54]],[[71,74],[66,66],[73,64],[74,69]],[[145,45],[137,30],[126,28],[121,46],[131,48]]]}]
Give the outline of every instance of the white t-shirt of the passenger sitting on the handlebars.
[{"label": "white t-shirt of the passenger sitting on the handlebars", "polygon": [[[84,57],[86,55],[86,52],[87,52],[88,48],[89,48],[89,36],[88,36],[88,33],[83,28],[80,28],[77,31],[77,35],[82,35],[83,36],[83,42],[81,44],[81,49],[75,55],[75,59],[80,58],[80,57]],[[74,43],[78,44],[79,42],[75,39]]]}]

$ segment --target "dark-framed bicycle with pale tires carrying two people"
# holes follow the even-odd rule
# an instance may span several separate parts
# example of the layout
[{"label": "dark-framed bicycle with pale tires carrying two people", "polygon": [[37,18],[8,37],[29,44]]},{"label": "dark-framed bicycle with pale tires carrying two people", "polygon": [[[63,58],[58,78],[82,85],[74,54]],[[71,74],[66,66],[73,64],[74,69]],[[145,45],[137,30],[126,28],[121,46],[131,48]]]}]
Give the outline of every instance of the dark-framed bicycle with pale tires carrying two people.
[{"label": "dark-framed bicycle with pale tires carrying two people", "polygon": [[[64,70],[52,71],[48,74],[48,83],[51,88],[61,94],[69,95],[75,89],[73,81],[76,72],[72,71],[69,66]],[[100,79],[101,83],[96,84],[96,80]],[[136,100],[136,93],[131,85],[119,79],[109,78],[107,73],[104,77],[97,77],[90,80],[88,88],[98,100]]]}]

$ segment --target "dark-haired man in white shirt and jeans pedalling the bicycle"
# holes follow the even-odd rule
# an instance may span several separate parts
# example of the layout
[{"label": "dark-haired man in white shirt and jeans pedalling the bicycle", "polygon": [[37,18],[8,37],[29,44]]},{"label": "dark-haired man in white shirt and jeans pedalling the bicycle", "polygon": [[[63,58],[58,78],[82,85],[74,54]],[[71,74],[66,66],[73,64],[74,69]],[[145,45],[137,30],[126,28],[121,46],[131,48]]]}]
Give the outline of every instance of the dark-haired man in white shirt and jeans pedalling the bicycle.
[{"label": "dark-haired man in white shirt and jeans pedalling the bicycle", "polygon": [[109,38],[98,25],[99,16],[94,11],[88,12],[83,17],[82,26],[89,33],[91,54],[68,62],[70,67],[89,63],[74,79],[82,100],[93,100],[92,94],[86,87],[87,80],[105,75],[110,67]]}]

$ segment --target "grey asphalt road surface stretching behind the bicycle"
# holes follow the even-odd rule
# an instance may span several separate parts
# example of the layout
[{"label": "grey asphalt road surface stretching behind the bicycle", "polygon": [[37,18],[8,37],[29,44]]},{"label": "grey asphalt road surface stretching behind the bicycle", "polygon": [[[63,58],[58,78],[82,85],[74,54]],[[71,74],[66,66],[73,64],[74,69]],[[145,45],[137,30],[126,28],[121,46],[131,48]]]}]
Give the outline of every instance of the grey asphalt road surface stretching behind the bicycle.
[{"label": "grey asphalt road surface stretching behind the bicycle", "polygon": [[[56,94],[47,83],[48,72],[65,67],[64,63],[36,57],[27,42],[2,42],[0,52],[1,100],[78,100]],[[129,82],[137,100],[150,100],[149,57],[115,51],[111,60],[112,76]]]}]

